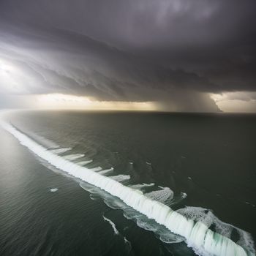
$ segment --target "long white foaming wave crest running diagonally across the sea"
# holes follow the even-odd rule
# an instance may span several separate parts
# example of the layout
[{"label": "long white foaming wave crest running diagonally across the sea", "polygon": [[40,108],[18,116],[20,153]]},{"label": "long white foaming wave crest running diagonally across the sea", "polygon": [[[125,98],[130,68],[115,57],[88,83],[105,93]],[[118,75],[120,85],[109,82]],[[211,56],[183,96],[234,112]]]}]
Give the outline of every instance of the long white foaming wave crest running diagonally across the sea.
[{"label": "long white foaming wave crest running diagonally across the sea", "polygon": [[154,219],[160,225],[167,227],[172,233],[186,238],[187,244],[195,247],[198,251],[217,256],[255,255],[254,252],[246,253],[243,247],[231,241],[230,238],[208,229],[203,222],[195,222],[192,219],[188,219],[182,214],[173,211],[170,207],[165,206],[165,204],[143,195],[143,192],[138,189],[126,187],[120,182],[113,180],[113,178],[102,176],[86,167],[76,165],[74,162],[64,159],[64,157],[53,154],[10,124],[2,123],[1,125],[14,135],[23,146],[29,148],[34,154],[45,159],[51,165],[71,176],[80,178],[82,181],[105,190],[110,195],[118,197],[127,206],[144,214],[149,219]]}]

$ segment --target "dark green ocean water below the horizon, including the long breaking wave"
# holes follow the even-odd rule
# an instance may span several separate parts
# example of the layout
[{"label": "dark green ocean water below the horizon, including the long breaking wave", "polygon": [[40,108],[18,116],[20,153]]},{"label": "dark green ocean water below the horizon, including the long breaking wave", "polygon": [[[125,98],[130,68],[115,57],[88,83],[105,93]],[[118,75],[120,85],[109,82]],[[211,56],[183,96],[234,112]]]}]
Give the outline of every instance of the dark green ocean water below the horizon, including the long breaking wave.
[{"label": "dark green ocean water below the horizon, including the long breaking wave", "polygon": [[255,255],[255,115],[2,119],[0,255]]}]

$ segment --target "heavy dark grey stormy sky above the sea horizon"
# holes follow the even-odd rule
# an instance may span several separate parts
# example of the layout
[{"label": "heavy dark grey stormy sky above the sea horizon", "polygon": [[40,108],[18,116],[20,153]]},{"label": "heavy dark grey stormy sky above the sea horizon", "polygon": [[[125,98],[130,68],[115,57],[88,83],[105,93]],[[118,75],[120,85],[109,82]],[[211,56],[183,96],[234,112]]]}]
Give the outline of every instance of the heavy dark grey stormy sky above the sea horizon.
[{"label": "heavy dark grey stormy sky above the sea horizon", "polygon": [[256,112],[255,13],[255,0],[0,0],[0,108],[71,94]]}]

